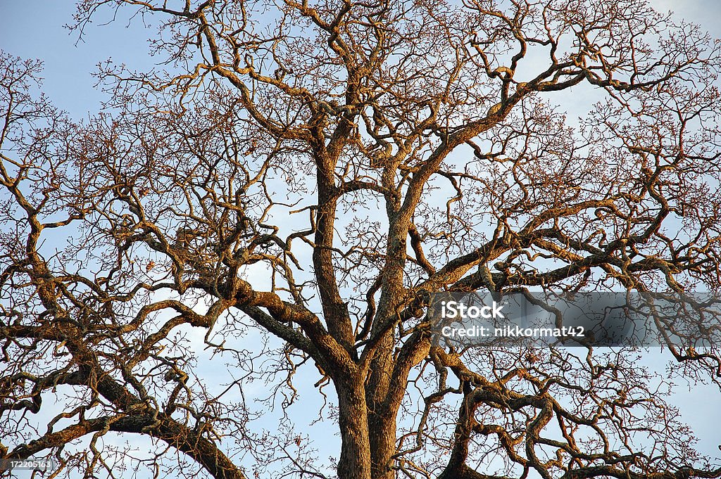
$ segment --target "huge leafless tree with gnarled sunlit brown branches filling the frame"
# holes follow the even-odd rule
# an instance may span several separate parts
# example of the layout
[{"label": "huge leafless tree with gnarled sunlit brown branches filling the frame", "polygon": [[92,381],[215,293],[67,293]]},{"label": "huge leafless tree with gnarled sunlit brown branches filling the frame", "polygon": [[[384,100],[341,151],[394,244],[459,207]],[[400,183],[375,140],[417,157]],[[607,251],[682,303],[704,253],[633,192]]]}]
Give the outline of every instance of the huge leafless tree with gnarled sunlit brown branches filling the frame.
[{"label": "huge leafless tree with gnarled sunlit brown branches filling the frame", "polygon": [[[717,292],[718,42],[637,0],[176,3],[79,3],[79,32],[161,22],[166,61],[105,64],[86,122],[1,58],[1,457],[324,477],[244,399],[288,408],[317,368],[339,478],[721,477],[637,351],[456,351],[425,321],[435,292]],[[668,348],[719,382],[717,346]],[[153,455],[120,470],[115,433]]]}]

